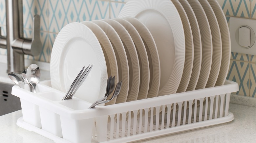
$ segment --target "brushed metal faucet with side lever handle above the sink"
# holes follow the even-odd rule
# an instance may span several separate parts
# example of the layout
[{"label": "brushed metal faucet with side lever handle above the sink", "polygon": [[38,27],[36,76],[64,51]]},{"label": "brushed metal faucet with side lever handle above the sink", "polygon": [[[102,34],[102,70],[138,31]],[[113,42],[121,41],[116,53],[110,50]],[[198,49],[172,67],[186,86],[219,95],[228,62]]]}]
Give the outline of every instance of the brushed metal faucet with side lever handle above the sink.
[{"label": "brushed metal faucet with side lever handle above the sink", "polygon": [[23,37],[22,0],[6,0],[6,37],[1,35],[0,48],[7,49],[7,72],[21,73],[25,69],[24,54],[37,56],[42,49],[40,41],[40,17],[33,18],[32,39]]}]

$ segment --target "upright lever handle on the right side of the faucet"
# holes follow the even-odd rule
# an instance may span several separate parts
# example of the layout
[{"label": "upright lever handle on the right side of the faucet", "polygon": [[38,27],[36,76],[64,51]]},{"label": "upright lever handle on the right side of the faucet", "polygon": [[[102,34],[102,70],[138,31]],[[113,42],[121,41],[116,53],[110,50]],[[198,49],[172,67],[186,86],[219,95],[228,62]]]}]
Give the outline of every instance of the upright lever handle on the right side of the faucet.
[{"label": "upright lever handle on the right side of the faucet", "polygon": [[22,45],[23,53],[26,55],[37,56],[42,50],[40,40],[40,16],[35,15],[33,18],[32,40],[25,39]]}]

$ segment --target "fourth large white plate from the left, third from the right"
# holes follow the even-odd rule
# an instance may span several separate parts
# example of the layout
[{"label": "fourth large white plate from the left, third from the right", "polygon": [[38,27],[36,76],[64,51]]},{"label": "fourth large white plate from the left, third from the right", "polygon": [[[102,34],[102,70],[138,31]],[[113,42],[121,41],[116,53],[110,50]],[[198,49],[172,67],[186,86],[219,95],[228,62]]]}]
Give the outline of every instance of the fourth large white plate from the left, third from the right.
[{"label": "fourth large white plate from the left, third from the right", "polygon": [[198,0],[187,0],[193,8],[202,38],[202,66],[196,89],[205,88],[212,65],[212,35],[207,16]]}]

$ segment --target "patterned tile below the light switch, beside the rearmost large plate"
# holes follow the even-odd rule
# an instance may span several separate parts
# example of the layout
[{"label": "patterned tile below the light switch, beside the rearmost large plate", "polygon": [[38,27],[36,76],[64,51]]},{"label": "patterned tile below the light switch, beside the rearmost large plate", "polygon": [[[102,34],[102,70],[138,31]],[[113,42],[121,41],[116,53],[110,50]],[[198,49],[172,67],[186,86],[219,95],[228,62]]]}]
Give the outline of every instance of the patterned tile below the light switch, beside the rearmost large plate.
[{"label": "patterned tile below the light switch, beside the rearmost large plate", "polygon": [[231,60],[227,79],[238,83],[239,91],[235,92],[235,94],[249,96],[250,81],[248,62]]}]

